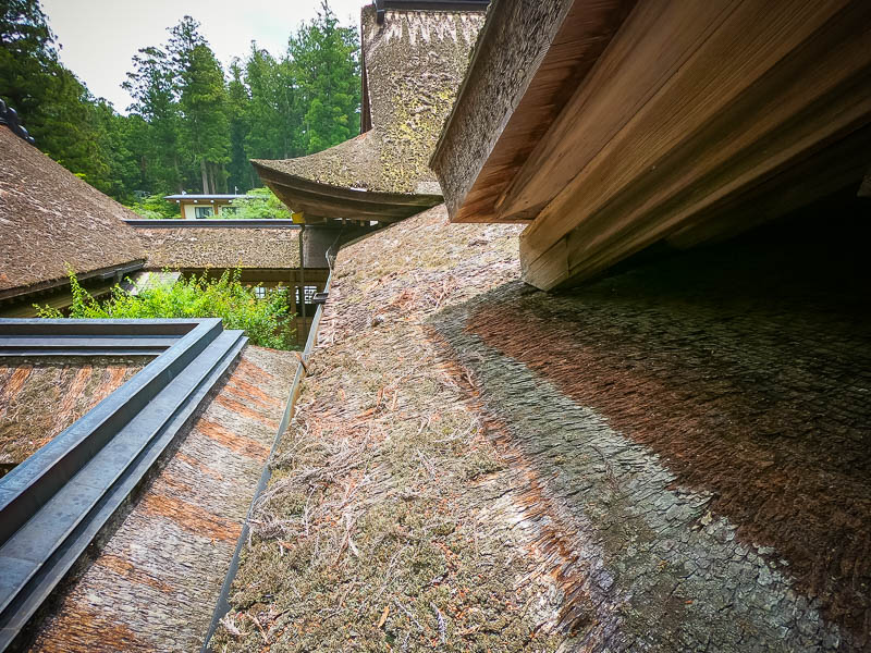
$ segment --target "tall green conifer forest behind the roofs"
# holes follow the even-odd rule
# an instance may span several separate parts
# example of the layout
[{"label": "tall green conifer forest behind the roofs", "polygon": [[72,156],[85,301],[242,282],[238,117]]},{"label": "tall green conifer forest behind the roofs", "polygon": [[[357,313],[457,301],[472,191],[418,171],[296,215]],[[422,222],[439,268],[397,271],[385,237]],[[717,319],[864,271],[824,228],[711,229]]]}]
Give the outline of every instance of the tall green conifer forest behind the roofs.
[{"label": "tall green conifer forest behind the roofs", "polygon": [[139,49],[127,114],[95,98],[58,57],[39,0],[0,0],[0,98],[49,157],[132,205],[172,193],[245,193],[249,159],[314,153],[359,132],[359,40],[322,0],[279,58],[252,41],[223,70],[184,16]]}]

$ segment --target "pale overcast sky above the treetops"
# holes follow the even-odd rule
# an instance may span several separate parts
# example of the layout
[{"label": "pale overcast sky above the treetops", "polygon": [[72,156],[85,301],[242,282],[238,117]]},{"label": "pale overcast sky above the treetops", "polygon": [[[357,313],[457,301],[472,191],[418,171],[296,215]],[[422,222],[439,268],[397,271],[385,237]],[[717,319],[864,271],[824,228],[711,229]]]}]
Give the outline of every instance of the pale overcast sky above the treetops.
[{"label": "pale overcast sky above the treetops", "polygon": [[[343,25],[359,24],[368,0],[330,0]],[[121,83],[139,48],[162,44],[185,14],[201,23],[201,32],[224,65],[244,57],[256,40],[278,56],[300,22],[314,19],[320,0],[42,0],[58,35],[61,61],[97,97],[126,112],[130,96]]]}]

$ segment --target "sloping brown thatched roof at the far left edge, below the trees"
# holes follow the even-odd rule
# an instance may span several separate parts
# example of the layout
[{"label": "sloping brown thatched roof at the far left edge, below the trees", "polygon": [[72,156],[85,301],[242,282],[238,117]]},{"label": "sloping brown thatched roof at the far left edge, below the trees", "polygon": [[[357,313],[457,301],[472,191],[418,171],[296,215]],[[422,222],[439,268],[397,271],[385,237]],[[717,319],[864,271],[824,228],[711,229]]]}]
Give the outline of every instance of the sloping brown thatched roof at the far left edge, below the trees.
[{"label": "sloping brown thatched roof at the far left edge, below the trees", "polygon": [[0,126],[0,295],[145,258],[137,218]]}]

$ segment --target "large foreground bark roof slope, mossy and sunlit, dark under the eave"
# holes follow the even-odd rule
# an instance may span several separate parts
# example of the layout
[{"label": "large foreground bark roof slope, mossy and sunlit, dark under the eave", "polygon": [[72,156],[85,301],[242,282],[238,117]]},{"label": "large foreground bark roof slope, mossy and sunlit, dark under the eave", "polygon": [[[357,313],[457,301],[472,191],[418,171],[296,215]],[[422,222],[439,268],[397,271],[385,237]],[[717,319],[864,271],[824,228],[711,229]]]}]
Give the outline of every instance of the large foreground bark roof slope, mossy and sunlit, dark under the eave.
[{"label": "large foreground bark roof slope, mossy and sunlit, dark under the eave", "polygon": [[557,297],[443,207],[343,249],[221,645],[864,650],[871,309],[803,233]]}]

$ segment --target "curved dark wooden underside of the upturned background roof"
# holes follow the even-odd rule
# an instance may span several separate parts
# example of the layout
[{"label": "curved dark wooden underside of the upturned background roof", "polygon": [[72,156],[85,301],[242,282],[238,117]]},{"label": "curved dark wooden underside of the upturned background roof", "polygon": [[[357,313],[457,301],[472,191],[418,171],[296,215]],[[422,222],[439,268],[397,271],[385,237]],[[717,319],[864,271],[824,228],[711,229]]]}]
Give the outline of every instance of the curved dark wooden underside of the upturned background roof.
[{"label": "curved dark wooden underside of the upturned background roof", "polygon": [[441,195],[354,190],[279,172],[259,161],[252,164],[289,209],[307,219],[395,222],[443,201]]}]

